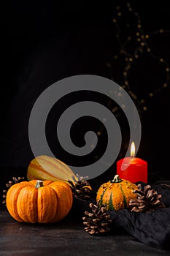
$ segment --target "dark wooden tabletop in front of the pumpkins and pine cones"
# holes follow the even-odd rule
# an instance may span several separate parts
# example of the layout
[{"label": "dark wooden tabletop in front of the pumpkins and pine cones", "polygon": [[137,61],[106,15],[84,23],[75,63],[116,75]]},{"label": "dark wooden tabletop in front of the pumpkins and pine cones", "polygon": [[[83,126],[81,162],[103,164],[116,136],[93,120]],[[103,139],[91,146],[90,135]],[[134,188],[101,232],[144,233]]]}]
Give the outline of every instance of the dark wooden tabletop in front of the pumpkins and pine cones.
[{"label": "dark wooden tabletop in front of the pumpkins and pine cones", "polygon": [[16,222],[6,209],[0,212],[0,255],[170,255],[152,248],[127,233],[92,236],[80,219],[67,216],[61,222],[40,225]]}]

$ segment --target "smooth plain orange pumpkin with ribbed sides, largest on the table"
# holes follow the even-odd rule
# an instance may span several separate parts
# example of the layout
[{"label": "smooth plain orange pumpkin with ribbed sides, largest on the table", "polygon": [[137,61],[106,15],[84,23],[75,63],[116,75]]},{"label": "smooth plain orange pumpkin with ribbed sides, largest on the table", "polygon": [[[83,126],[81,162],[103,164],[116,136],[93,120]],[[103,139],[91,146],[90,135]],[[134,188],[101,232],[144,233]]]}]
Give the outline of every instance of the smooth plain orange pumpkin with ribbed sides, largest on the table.
[{"label": "smooth plain orange pumpkin with ribbed sides, largest on the table", "polygon": [[72,208],[72,189],[63,181],[22,181],[7,191],[9,214],[18,222],[50,223]]}]

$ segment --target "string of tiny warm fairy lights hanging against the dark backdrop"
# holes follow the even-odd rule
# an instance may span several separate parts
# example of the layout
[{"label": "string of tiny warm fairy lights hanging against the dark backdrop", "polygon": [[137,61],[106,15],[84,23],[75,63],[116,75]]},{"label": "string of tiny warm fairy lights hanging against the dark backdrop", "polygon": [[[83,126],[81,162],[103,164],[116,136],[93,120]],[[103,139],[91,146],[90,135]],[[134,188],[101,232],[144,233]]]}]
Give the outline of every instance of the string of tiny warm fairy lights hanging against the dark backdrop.
[{"label": "string of tiny warm fairy lights hanging against the dark backdrop", "polygon": [[[131,29],[132,21],[133,29]],[[147,102],[150,101],[152,97],[157,95],[163,89],[169,87],[169,63],[163,57],[156,56],[153,53],[151,41],[155,36],[161,37],[163,36],[163,34],[170,34],[170,31],[158,29],[156,31],[152,31],[152,33],[150,34],[145,34],[144,29],[142,28],[142,20],[139,16],[139,13],[131,7],[131,4],[129,2],[124,4],[123,6],[118,5],[115,8],[112,22],[115,24],[115,28],[117,31],[116,38],[119,45],[118,52],[113,57],[113,61],[117,61],[117,65],[120,65],[121,63],[121,86],[134,100],[136,107],[139,109],[139,113],[143,113],[148,108]],[[137,61],[140,61],[140,58],[142,56],[152,58],[153,61],[157,62],[158,65],[161,65],[160,72],[163,72],[163,74],[161,74],[163,79],[161,82],[161,86],[157,86],[157,89],[147,92],[144,98],[140,99],[138,95],[134,93],[134,91],[131,89],[132,87],[134,88],[134,84],[132,84],[132,82],[130,81],[129,74],[132,67],[135,67]],[[107,63],[107,67],[109,67],[109,69],[112,69],[112,64]],[[112,109],[112,112],[115,113],[116,111],[117,108]]]}]

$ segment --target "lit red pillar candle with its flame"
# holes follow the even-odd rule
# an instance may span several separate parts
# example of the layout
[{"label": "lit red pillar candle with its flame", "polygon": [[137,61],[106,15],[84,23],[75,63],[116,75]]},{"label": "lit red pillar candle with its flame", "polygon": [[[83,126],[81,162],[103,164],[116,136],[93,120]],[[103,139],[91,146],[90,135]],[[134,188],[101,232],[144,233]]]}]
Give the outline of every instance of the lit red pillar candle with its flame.
[{"label": "lit red pillar candle with its flame", "polygon": [[135,145],[134,142],[132,142],[131,157],[125,157],[117,161],[117,174],[120,178],[133,183],[137,181],[147,183],[147,162],[134,156]]}]

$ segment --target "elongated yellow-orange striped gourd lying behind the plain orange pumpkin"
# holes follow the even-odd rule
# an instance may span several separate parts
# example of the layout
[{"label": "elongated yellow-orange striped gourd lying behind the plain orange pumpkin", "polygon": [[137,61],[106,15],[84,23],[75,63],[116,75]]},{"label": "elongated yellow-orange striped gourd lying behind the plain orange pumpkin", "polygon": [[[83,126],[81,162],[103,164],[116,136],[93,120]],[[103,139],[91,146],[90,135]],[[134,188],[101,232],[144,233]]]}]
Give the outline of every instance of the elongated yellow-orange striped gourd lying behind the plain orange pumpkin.
[{"label": "elongated yellow-orange striped gourd lying behind the plain orange pumpkin", "polygon": [[[74,177],[74,178],[73,178]],[[28,181],[40,179],[42,181],[77,181],[77,176],[61,160],[46,155],[35,157],[29,162],[27,170]],[[70,184],[69,184],[70,185]]]}]

